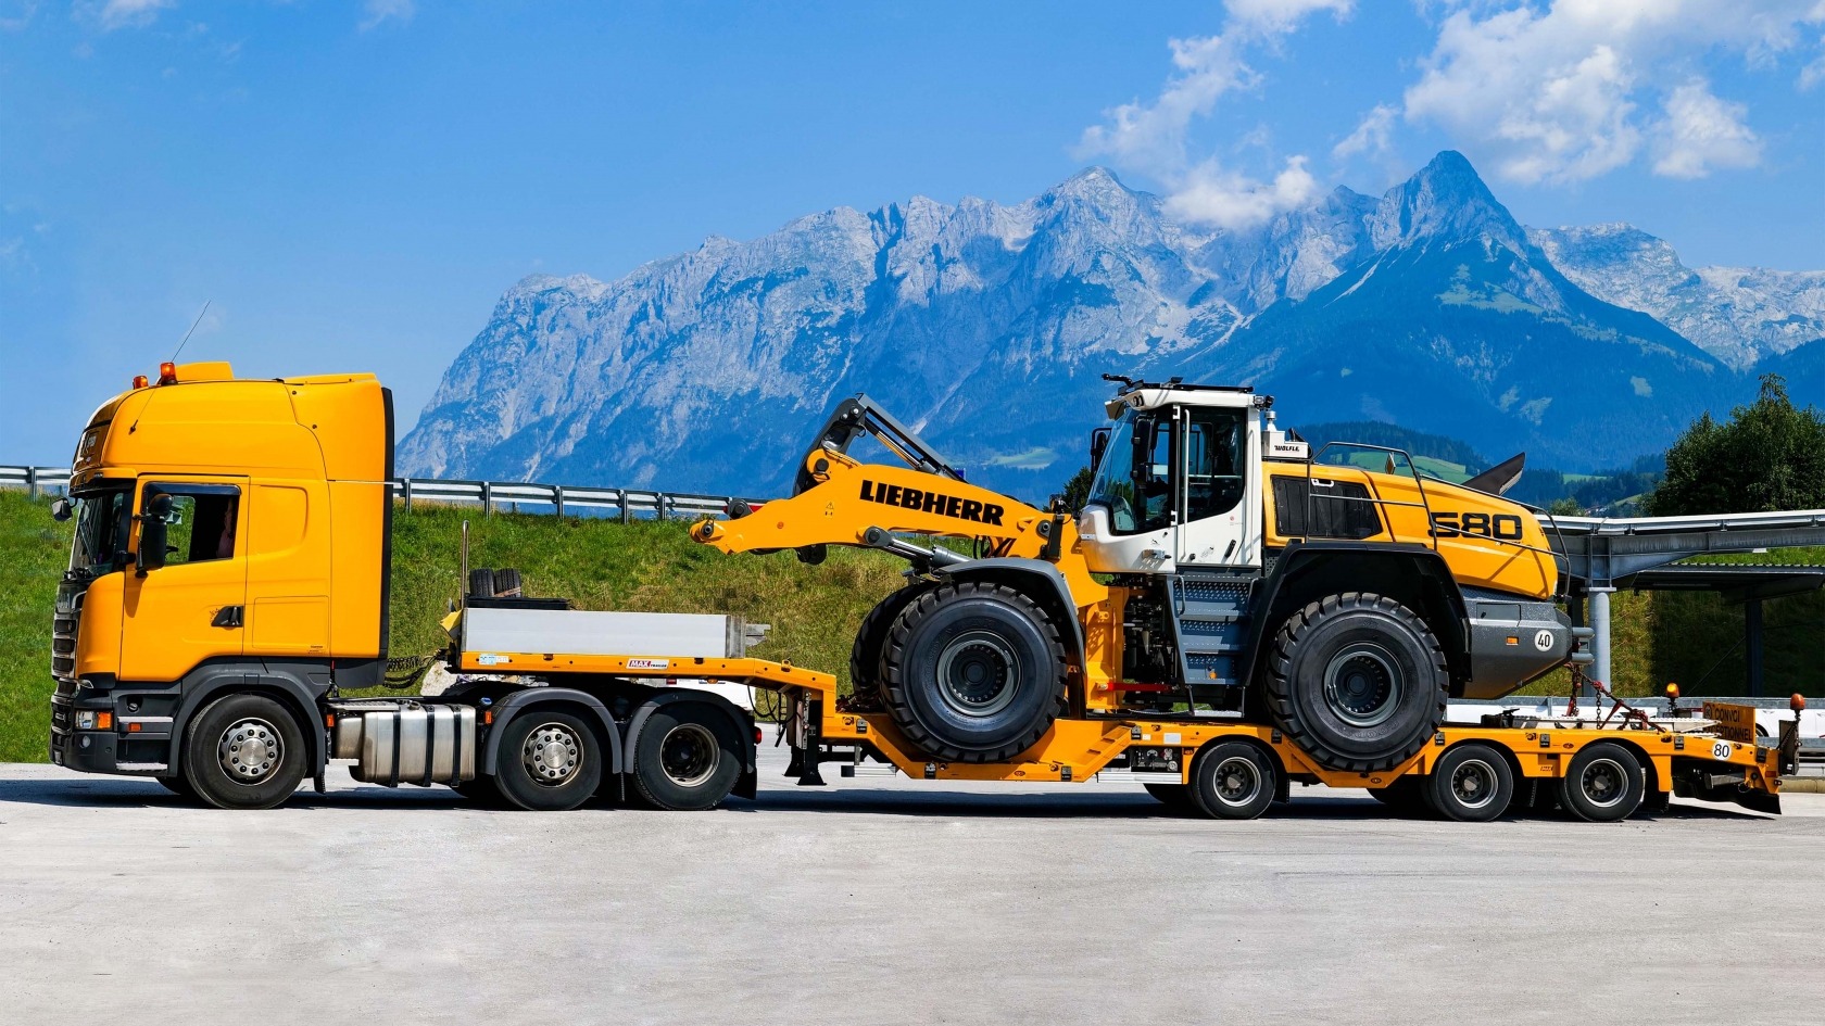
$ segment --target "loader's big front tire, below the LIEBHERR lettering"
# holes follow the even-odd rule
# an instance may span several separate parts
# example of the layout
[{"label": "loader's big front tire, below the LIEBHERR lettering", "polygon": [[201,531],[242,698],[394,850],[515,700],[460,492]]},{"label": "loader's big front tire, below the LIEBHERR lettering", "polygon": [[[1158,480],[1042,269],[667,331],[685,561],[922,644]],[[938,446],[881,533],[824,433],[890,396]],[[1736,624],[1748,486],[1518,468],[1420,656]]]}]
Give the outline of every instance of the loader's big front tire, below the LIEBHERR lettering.
[{"label": "loader's big front tire, below the LIEBHERR lettering", "polygon": [[1064,714],[1064,644],[1004,584],[940,584],[894,619],[881,654],[887,714],[934,761],[995,763]]}]

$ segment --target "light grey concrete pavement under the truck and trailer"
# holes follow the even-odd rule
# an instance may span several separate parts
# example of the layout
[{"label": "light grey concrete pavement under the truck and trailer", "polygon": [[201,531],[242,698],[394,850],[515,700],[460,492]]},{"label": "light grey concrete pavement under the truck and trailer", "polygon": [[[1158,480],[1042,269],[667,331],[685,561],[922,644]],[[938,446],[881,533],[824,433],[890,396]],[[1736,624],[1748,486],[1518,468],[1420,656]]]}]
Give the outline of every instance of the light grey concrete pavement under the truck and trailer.
[{"label": "light grey concrete pavement under the truck and trailer", "polygon": [[0,767],[4,1022],[1801,1022],[1825,796],[1595,825],[781,780],[679,814],[270,812]]}]

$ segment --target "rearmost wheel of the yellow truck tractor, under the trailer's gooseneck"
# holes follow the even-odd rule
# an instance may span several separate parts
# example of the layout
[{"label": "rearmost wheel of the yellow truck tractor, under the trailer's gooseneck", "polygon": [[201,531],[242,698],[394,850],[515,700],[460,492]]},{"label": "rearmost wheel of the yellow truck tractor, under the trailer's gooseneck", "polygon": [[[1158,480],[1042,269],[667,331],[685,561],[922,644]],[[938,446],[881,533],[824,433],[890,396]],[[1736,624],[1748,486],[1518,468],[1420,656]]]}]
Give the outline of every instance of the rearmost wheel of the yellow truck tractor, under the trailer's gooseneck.
[{"label": "rearmost wheel of the yellow truck tractor, under the trailer's gooseneck", "polygon": [[633,743],[633,789],[653,809],[695,812],[728,798],[741,778],[743,738],[701,703],[661,705]]}]

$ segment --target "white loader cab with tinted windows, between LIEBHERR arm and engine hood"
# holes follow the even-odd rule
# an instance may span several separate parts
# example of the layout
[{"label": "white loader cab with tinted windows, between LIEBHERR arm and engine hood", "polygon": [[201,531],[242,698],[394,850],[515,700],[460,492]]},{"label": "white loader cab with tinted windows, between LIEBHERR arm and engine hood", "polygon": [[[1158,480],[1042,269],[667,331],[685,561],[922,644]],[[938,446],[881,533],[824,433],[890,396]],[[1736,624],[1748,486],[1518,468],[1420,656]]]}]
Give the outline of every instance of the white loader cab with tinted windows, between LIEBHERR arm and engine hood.
[{"label": "white loader cab with tinted windows, between LIEBHERR arm and engine hood", "polygon": [[1261,566],[1261,429],[1248,389],[1144,385],[1106,403],[1079,520],[1097,573]]}]

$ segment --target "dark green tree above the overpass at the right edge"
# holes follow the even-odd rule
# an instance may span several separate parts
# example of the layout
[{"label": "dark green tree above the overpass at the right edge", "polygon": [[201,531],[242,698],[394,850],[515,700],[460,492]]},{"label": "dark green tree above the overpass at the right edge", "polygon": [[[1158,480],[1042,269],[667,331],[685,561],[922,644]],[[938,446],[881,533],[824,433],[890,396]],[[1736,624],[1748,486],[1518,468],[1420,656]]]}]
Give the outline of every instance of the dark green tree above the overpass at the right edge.
[{"label": "dark green tree above the overpass at the right edge", "polygon": [[1825,416],[1794,407],[1787,382],[1765,374],[1754,403],[1726,424],[1706,413],[1674,442],[1644,508],[1653,517],[1825,508]]}]

